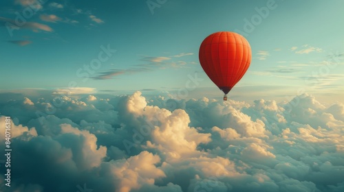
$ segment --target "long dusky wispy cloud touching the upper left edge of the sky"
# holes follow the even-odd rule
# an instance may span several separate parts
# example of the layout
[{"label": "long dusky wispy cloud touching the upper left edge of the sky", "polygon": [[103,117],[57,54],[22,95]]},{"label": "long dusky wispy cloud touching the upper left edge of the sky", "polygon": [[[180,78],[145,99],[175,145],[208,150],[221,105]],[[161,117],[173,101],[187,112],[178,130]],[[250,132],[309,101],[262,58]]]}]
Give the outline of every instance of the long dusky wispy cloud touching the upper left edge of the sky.
[{"label": "long dusky wispy cloud touching the upper left edge of the sky", "polygon": [[53,31],[53,29],[49,27],[48,25],[44,25],[44,24],[36,23],[36,22],[26,22],[19,27],[17,26],[14,20],[0,17],[0,24],[7,25],[6,23],[10,23],[11,25],[9,26],[13,27],[14,29],[26,28],[26,29],[32,29],[33,32],[39,32],[39,31],[52,32]]}]

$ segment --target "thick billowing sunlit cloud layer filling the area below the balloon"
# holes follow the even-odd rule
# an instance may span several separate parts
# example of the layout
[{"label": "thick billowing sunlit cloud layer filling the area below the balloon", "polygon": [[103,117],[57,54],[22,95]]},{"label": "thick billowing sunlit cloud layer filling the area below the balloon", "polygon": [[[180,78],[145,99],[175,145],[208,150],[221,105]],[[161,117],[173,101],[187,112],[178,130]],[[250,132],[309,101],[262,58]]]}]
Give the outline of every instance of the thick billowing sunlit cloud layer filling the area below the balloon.
[{"label": "thick billowing sunlit cloud layer filling the area below the balloon", "polygon": [[1,166],[1,191],[344,191],[344,104],[312,95],[282,104],[140,92],[0,104],[0,123],[13,121],[11,187]]}]

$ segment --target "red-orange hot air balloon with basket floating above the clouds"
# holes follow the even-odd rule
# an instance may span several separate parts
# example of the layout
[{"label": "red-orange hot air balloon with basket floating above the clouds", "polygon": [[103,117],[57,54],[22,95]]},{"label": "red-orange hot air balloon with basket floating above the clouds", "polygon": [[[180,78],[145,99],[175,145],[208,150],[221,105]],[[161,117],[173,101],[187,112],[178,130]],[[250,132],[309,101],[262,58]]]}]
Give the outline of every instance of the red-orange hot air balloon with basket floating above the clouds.
[{"label": "red-orange hot air balloon with basket floating above the clouds", "polygon": [[246,38],[237,33],[216,32],[203,40],[199,58],[206,75],[227,100],[228,92],[250,67],[251,48]]}]

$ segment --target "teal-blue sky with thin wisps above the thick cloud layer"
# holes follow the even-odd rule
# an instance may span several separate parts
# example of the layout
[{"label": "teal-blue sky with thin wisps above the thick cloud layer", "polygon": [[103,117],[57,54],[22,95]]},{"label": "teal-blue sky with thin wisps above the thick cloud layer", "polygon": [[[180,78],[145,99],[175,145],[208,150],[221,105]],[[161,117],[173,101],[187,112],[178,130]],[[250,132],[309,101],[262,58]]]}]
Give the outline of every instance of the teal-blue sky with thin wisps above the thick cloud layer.
[{"label": "teal-blue sky with thin wisps above the thick cloud layer", "polygon": [[[45,1],[30,9],[28,2],[1,2],[2,92],[25,95],[76,82],[96,94],[164,91],[178,97],[188,75],[197,73],[203,81],[188,97],[219,98],[198,49],[213,32],[235,31],[248,39],[252,62],[233,98],[283,101],[301,88],[329,103],[343,101],[343,1]],[[269,11],[261,16],[257,9]],[[18,15],[23,26],[9,32],[6,23],[16,25]],[[252,19],[254,29],[247,30]],[[86,80],[84,66],[98,58],[101,46],[116,52]]]}]

